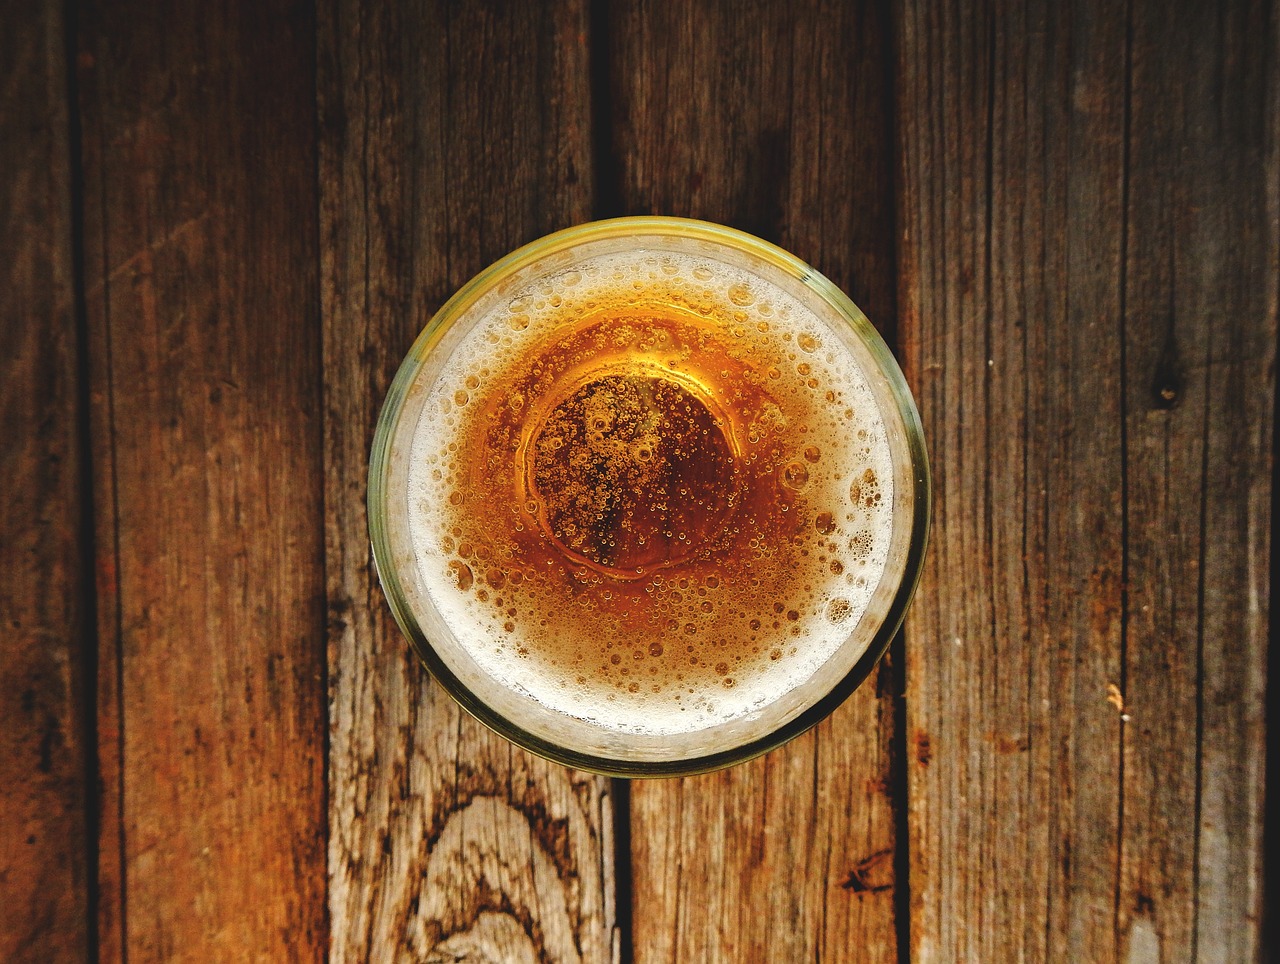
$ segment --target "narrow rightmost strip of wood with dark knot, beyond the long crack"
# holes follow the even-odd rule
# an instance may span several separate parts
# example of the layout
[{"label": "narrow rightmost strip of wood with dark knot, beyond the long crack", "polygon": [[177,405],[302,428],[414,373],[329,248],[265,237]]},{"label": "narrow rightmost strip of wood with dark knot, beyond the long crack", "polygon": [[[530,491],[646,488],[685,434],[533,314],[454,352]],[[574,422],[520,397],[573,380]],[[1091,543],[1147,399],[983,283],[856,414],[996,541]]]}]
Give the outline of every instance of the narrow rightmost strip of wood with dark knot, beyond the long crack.
[{"label": "narrow rightmost strip of wood with dark knot, beyond the long crack", "polygon": [[1130,36],[1119,949],[1254,960],[1280,47],[1257,3],[1137,5]]}]

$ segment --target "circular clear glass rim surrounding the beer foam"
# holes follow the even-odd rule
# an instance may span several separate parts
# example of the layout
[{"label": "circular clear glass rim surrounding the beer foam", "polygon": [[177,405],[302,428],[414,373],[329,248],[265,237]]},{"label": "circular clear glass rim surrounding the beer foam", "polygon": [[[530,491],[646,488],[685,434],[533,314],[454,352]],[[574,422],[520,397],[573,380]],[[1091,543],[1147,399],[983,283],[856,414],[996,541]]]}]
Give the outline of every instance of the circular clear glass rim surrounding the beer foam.
[{"label": "circular clear glass rim surrounding the beer foam", "polygon": [[[892,397],[897,407],[897,415],[902,421],[914,483],[911,530],[901,577],[893,591],[888,609],[881,620],[881,625],[877,627],[867,649],[849,672],[832,685],[823,696],[795,717],[754,740],[700,757],[671,760],[625,760],[575,750],[530,732],[520,726],[520,723],[497,712],[472,693],[449,670],[439,653],[436,653],[408,606],[399,574],[393,561],[387,518],[390,440],[399,425],[406,394],[439,335],[463,315],[481,294],[490,291],[504,277],[516,273],[529,264],[558,251],[573,248],[586,241],[646,234],[708,241],[739,251],[746,251],[772,264],[774,268],[781,268],[806,287],[813,288],[817,294],[849,323],[872,355],[879,369],[879,374],[884,378],[888,385],[888,394]],[[401,362],[379,412],[369,462],[366,507],[374,565],[388,606],[415,654],[444,691],[479,722],[539,757],[603,776],[635,778],[690,776],[744,763],[788,743],[831,716],[870,676],[901,627],[906,608],[915,594],[923,570],[928,544],[932,498],[933,490],[928,454],[915,401],[897,360],[867,316],[854,305],[852,300],[823,274],[795,255],[753,234],[710,221],[649,215],[588,221],[531,241],[477,273],[440,306],[413,339],[413,344]]]}]

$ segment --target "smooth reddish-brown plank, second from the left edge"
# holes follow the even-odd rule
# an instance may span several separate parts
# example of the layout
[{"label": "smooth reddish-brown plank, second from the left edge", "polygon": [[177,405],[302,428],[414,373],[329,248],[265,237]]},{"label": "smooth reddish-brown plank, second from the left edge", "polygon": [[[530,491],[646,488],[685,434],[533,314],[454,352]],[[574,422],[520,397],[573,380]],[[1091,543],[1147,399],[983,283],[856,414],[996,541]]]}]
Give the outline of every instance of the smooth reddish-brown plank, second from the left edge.
[{"label": "smooth reddish-brown plank, second from the left edge", "polygon": [[88,4],[101,958],[316,960],[314,23]]}]

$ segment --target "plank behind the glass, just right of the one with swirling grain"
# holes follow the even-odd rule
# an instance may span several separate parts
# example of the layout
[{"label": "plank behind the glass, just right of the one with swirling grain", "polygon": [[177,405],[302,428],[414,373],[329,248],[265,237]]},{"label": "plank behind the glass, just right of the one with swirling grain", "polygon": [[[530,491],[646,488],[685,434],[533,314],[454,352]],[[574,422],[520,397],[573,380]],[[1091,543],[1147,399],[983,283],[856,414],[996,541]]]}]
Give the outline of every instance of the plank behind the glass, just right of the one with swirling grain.
[{"label": "plank behind the glass, just right of the one with swirling grain", "polygon": [[[780,243],[892,337],[881,5],[609,12],[621,213]],[[831,719],[762,759],[632,785],[636,960],[896,959],[895,699],[882,664]]]}]

